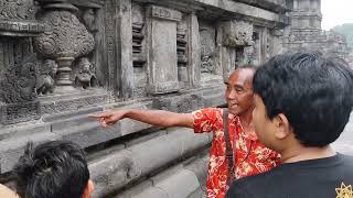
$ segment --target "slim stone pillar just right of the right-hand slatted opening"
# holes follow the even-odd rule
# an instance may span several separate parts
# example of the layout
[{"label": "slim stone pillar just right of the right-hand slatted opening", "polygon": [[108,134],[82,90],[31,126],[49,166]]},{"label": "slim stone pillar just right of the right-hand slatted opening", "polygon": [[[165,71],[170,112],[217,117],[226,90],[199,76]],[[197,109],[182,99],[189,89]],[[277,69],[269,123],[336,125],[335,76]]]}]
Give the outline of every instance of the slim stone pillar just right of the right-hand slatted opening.
[{"label": "slim stone pillar just right of the right-hand slatted opening", "polygon": [[199,21],[195,13],[191,13],[188,16],[188,30],[189,30],[189,79],[192,87],[199,87],[201,80],[201,56],[200,56],[200,32]]}]

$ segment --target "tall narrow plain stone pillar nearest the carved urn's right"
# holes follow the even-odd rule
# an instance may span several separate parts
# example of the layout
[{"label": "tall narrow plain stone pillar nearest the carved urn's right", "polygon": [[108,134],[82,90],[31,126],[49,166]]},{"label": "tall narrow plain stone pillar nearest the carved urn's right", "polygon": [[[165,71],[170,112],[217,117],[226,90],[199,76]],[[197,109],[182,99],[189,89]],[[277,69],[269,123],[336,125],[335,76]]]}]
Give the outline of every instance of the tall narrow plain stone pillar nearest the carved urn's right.
[{"label": "tall narrow plain stone pillar nearest the carved urn's right", "polygon": [[131,24],[131,0],[119,0],[117,80],[120,86],[120,97],[124,99],[132,97],[133,67],[132,67],[132,24]]}]

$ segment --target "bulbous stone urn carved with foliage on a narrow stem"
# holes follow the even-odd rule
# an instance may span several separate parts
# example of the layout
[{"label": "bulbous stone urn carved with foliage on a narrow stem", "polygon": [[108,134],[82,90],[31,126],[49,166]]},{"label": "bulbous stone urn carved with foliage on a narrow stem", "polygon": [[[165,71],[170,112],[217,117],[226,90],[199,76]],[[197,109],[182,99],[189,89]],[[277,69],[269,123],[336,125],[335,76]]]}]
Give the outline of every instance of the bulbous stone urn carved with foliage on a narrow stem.
[{"label": "bulbous stone urn carved with foliage on a narrow stem", "polygon": [[57,62],[57,88],[66,86],[64,91],[73,90],[72,63],[94,50],[94,36],[66,10],[47,11],[40,21],[44,22],[46,31],[35,37],[34,46],[43,57]]}]

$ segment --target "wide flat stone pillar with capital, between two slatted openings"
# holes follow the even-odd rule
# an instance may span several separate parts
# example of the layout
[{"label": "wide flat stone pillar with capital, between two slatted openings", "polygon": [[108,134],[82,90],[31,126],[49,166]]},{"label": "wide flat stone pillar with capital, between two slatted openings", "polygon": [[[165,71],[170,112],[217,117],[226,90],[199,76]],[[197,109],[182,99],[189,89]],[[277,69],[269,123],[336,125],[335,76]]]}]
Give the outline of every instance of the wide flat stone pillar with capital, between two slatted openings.
[{"label": "wide flat stone pillar with capital, between two slatted openings", "polygon": [[179,90],[176,56],[176,22],[179,11],[149,6],[147,9],[149,92]]}]

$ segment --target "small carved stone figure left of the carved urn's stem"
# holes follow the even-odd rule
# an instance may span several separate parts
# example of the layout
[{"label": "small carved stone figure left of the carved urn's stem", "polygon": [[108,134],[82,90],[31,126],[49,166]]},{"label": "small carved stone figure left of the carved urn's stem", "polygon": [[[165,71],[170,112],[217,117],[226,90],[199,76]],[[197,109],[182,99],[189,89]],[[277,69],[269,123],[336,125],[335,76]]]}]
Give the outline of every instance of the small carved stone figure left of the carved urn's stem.
[{"label": "small carved stone figure left of the carved urn's stem", "polygon": [[36,94],[46,95],[53,94],[55,80],[54,77],[57,72],[57,64],[53,59],[45,59],[43,63],[43,72],[41,73],[36,82]]}]

